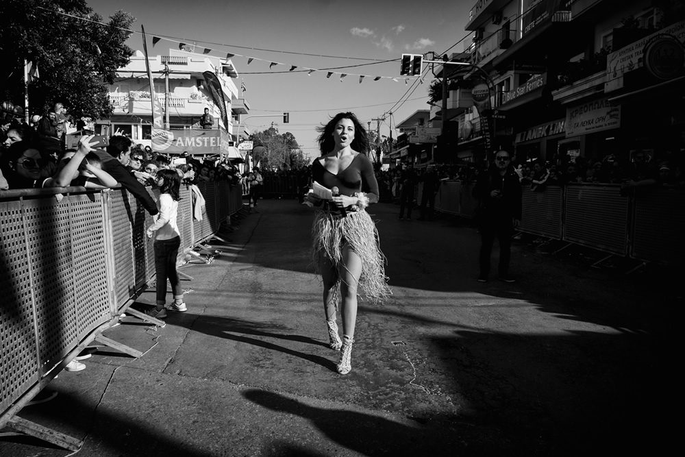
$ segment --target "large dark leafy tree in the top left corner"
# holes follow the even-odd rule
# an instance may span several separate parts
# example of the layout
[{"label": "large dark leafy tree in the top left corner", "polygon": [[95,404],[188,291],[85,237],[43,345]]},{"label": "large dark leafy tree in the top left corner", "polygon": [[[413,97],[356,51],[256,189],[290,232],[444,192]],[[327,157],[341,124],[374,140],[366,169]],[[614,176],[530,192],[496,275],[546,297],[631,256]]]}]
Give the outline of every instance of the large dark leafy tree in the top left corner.
[{"label": "large dark leafy tree in the top left corner", "polygon": [[125,45],[134,18],[116,12],[108,23],[84,0],[0,1],[2,99],[24,104],[24,65],[38,67],[29,83],[30,114],[64,103],[71,121],[107,119],[108,85],[133,54]]}]

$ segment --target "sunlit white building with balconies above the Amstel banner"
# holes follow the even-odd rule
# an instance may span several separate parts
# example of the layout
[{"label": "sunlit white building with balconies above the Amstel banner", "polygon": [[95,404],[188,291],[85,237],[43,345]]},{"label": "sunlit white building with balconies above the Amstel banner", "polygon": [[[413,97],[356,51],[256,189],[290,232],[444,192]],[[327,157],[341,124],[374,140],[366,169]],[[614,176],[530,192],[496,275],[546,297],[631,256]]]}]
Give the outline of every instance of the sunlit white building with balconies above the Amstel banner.
[{"label": "sunlit white building with balconies above the Amstel banner", "polygon": [[[208,136],[220,138],[223,152],[236,153],[235,145],[249,137],[241,116],[249,114],[249,103],[235,81],[239,75],[231,60],[170,49],[168,55],[149,56],[154,92],[162,108],[164,129],[203,129],[201,116],[207,108],[212,116]],[[136,51],[130,62],[117,71],[110,85],[110,119],[95,123],[99,134],[122,132],[141,145],[151,145],[153,116],[145,55]]]}]

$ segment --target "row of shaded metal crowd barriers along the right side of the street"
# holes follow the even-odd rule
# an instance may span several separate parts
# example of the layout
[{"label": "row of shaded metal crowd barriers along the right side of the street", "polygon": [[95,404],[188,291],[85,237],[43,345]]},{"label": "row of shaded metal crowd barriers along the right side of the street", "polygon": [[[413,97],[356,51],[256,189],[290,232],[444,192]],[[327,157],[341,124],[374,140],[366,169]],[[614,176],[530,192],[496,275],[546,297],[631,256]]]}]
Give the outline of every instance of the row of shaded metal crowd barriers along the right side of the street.
[{"label": "row of shaded metal crowd barriers along the right side of the street", "polygon": [[[477,200],[473,183],[443,181],[436,210],[471,218]],[[593,247],[648,262],[682,263],[685,258],[685,189],[641,189],[621,196],[618,184],[523,186],[521,232]]]}]

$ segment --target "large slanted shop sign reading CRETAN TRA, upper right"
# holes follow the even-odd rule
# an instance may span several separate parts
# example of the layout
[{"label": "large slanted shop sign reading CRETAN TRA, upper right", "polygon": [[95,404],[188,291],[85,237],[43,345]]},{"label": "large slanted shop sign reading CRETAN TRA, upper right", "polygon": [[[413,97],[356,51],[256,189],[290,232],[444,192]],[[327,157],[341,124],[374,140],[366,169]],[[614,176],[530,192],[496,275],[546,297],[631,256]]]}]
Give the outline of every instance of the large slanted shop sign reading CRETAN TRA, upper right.
[{"label": "large slanted shop sign reading CRETAN TRA, upper right", "polygon": [[659,35],[670,35],[675,40],[685,43],[685,21],[670,25],[607,55],[605,93],[622,88],[623,75],[644,66],[645,45]]}]

